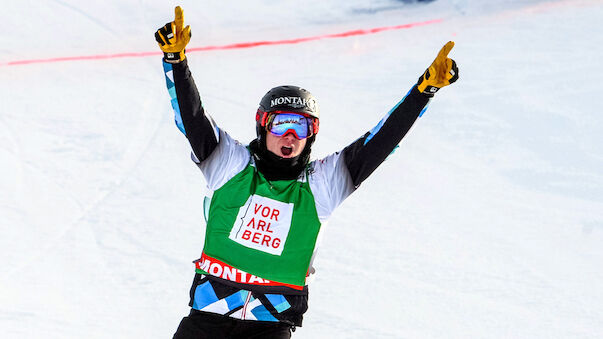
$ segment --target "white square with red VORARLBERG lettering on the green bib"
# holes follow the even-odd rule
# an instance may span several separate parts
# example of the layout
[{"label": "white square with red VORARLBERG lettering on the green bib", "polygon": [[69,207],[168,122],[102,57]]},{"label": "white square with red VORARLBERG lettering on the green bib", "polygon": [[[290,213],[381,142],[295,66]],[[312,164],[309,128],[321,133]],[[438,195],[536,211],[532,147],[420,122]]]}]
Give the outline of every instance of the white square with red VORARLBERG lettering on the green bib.
[{"label": "white square with red VORARLBERG lettering on the green bib", "polygon": [[229,238],[245,247],[281,255],[292,214],[292,203],[252,195],[239,209]]}]

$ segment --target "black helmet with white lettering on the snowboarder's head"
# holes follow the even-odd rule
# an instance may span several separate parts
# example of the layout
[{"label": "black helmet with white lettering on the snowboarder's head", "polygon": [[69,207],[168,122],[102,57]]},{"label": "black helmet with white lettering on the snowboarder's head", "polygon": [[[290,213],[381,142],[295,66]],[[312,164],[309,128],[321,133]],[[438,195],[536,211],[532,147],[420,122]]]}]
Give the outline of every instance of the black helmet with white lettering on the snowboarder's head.
[{"label": "black helmet with white lettering on the snowboarder's head", "polygon": [[313,118],[318,131],[320,113],[316,98],[308,90],[297,86],[278,86],[269,90],[260,101],[255,115],[257,136],[263,136],[263,128],[270,113],[291,112]]}]

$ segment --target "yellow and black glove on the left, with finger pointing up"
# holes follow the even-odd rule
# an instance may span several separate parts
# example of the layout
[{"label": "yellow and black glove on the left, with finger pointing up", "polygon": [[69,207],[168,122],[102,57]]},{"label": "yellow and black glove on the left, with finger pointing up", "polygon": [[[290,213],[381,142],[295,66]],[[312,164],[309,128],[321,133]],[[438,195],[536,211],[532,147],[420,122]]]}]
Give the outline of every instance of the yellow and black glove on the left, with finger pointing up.
[{"label": "yellow and black glove on the left, with finger pointing up", "polygon": [[168,62],[180,62],[186,58],[185,48],[191,40],[191,26],[184,29],[184,14],[182,8],[177,6],[174,9],[176,18],[168,22],[165,26],[155,32],[155,40],[159,43],[159,48],[163,51],[163,57]]}]

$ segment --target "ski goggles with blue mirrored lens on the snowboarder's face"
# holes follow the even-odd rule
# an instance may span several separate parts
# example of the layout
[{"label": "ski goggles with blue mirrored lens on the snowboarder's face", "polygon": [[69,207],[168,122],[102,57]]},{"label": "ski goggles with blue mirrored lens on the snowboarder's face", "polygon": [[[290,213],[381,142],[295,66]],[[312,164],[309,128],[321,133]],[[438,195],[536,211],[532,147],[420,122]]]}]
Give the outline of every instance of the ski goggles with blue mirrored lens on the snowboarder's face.
[{"label": "ski goggles with blue mirrored lens on the snowboarder's face", "polygon": [[318,133],[318,119],[292,112],[260,113],[263,113],[262,126],[276,136],[291,133],[297,139],[302,140]]}]

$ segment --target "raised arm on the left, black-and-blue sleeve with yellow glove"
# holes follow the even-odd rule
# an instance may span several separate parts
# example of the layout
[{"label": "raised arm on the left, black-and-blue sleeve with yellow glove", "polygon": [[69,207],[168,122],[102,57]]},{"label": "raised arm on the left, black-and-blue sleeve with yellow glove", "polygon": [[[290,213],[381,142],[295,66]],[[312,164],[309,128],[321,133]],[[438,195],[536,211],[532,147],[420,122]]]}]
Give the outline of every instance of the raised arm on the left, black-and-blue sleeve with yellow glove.
[{"label": "raised arm on the left, black-and-blue sleeve with yellow glove", "polygon": [[219,142],[219,130],[205,113],[193,76],[188,68],[185,48],[191,38],[190,26],[184,26],[180,6],[175,19],[157,30],[155,39],[164,53],[165,81],[174,108],[176,125],[187,137],[198,161],[207,159]]}]

